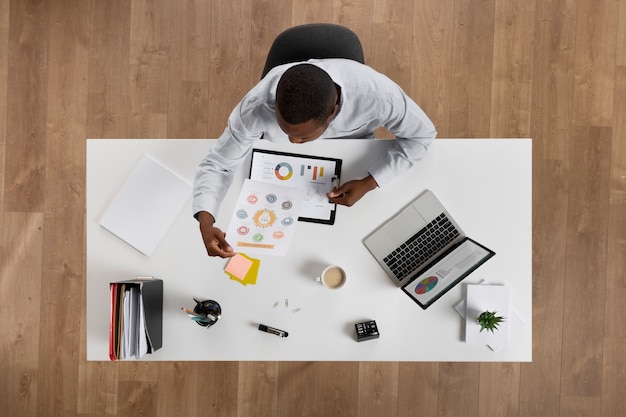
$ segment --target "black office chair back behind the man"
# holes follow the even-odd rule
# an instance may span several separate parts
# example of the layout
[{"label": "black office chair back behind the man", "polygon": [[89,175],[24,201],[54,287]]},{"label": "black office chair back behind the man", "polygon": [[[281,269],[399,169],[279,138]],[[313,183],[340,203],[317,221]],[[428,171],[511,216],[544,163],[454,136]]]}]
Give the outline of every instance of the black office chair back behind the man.
[{"label": "black office chair back behind the man", "polygon": [[330,23],[311,23],[294,26],[276,37],[261,78],[278,65],[312,58],[346,58],[365,63],[361,41],[353,31]]}]

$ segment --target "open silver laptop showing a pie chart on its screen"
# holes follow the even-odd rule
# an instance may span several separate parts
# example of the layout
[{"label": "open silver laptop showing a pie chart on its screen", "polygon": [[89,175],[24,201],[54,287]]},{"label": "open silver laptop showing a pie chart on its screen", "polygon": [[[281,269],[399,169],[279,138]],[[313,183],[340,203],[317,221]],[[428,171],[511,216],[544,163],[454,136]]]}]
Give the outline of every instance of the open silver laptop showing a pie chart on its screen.
[{"label": "open silver laptop showing a pie chart on its screen", "polygon": [[391,280],[424,309],[495,255],[467,237],[430,190],[363,243]]}]

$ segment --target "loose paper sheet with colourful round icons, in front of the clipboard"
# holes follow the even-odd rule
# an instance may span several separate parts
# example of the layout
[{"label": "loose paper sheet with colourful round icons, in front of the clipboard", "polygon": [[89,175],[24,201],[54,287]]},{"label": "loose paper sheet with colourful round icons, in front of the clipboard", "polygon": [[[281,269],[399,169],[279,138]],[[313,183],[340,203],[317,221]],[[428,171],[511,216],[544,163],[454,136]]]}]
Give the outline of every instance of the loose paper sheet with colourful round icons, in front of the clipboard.
[{"label": "loose paper sheet with colourful round icons, in front of the clipboard", "polygon": [[228,242],[236,252],[284,256],[305,195],[303,189],[245,180],[226,233]]}]

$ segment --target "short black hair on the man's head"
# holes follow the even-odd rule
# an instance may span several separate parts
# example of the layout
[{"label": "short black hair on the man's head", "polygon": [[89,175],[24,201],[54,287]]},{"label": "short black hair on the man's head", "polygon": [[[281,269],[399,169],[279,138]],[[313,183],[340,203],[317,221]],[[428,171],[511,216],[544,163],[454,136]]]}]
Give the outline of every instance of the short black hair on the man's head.
[{"label": "short black hair on the man's head", "polygon": [[276,107],[284,121],[296,125],[324,122],[333,112],[337,88],[330,75],[312,64],[297,64],[285,71],[276,87]]}]

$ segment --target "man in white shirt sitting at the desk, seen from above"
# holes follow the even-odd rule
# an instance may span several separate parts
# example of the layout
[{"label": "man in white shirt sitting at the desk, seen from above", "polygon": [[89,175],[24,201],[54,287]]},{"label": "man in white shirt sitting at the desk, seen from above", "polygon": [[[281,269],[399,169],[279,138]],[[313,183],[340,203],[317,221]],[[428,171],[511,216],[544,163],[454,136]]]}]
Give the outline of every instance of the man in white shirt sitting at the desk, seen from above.
[{"label": "man in white shirt sitting at the desk, seen from above", "polygon": [[309,60],[272,69],[235,107],[228,127],[200,163],[194,180],[194,216],[210,256],[235,254],[214,226],[219,205],[254,142],[305,143],[318,138],[374,137],[384,126],[396,136],[386,155],[362,179],[328,194],[351,206],[421,159],[437,132],[402,89],[372,68],[348,59]]}]

